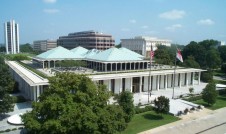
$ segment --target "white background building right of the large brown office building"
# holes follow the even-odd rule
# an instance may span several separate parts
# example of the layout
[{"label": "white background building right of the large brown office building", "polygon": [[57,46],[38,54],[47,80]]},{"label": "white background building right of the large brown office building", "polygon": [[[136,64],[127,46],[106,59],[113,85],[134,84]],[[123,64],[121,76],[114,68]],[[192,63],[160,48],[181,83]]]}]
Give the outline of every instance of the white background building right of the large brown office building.
[{"label": "white background building right of the large brown office building", "polygon": [[137,36],[132,39],[121,39],[122,47],[128,48],[145,57],[150,56],[151,45],[153,50],[157,49],[157,45],[171,46],[171,40],[158,39],[147,36]]}]

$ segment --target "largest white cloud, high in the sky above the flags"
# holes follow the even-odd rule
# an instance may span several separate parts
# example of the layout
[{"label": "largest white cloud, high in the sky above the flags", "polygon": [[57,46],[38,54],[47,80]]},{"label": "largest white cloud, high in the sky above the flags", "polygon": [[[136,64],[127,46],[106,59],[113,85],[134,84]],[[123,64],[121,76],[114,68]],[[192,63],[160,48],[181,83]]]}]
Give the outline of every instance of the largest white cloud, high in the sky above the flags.
[{"label": "largest white cloud, high in the sky above the flags", "polygon": [[170,19],[170,20],[176,20],[176,19],[181,19],[186,15],[186,12],[183,10],[172,10],[168,12],[161,13],[159,15],[160,18],[163,19]]}]

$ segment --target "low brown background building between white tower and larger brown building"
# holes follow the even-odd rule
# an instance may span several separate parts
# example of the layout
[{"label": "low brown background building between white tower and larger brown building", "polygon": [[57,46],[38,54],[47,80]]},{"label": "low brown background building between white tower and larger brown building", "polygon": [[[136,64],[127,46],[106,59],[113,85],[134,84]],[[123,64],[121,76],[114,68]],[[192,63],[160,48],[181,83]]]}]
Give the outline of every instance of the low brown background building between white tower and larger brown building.
[{"label": "low brown background building between white tower and larger brown building", "polygon": [[34,51],[48,51],[55,47],[57,47],[56,40],[38,40],[33,42],[33,50]]}]

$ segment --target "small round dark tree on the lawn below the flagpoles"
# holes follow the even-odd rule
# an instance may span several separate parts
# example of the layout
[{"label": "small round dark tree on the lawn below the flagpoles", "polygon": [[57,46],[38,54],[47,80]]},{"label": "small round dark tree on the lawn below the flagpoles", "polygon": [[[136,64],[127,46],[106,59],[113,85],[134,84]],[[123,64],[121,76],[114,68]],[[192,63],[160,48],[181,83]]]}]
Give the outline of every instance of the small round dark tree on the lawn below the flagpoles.
[{"label": "small round dark tree on the lawn below the flagpoles", "polygon": [[167,114],[169,113],[170,105],[169,99],[165,96],[159,96],[157,99],[154,100],[155,105],[155,112],[160,114]]}]

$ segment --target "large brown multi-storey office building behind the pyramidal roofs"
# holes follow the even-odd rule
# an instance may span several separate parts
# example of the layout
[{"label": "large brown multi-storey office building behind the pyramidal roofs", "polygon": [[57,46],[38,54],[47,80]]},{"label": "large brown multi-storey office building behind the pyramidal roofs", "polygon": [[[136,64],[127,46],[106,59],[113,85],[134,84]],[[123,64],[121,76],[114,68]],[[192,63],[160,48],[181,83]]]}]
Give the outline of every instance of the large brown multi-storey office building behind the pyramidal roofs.
[{"label": "large brown multi-storey office building behind the pyramidal roofs", "polygon": [[115,40],[111,35],[91,30],[61,36],[57,40],[57,46],[62,46],[67,49],[82,46],[86,49],[106,50],[115,46]]}]

